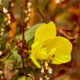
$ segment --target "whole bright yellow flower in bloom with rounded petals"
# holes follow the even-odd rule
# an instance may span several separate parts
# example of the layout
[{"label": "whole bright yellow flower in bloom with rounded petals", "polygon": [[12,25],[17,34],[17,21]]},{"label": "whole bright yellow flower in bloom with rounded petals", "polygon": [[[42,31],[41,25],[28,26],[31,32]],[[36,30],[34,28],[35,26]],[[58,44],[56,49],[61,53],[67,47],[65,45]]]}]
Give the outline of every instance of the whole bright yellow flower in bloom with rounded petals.
[{"label": "whole bright yellow flower in bloom with rounded petals", "polygon": [[52,64],[62,64],[71,60],[72,44],[68,39],[56,36],[53,22],[42,24],[35,32],[30,58],[41,68],[37,60],[51,61]]}]

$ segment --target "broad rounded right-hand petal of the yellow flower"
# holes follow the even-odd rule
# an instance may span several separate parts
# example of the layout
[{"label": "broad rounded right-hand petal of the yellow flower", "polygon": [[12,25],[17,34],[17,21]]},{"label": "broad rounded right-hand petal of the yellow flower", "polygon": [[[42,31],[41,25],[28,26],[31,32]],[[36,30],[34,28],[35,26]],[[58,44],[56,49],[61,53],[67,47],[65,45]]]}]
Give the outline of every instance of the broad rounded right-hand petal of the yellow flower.
[{"label": "broad rounded right-hand petal of the yellow flower", "polygon": [[56,37],[53,40],[53,44],[56,48],[55,56],[52,60],[52,64],[62,64],[69,62],[71,60],[71,42],[64,37]]}]

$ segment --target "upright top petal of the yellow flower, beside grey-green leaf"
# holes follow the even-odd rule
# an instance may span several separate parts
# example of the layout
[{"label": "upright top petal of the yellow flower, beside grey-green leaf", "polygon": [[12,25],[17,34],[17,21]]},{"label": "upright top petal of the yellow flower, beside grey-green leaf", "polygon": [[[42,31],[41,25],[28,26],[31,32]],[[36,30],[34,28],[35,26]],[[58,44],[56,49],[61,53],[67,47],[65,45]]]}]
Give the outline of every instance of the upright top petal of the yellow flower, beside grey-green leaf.
[{"label": "upright top petal of the yellow flower, beside grey-green leaf", "polygon": [[45,41],[56,37],[56,27],[53,22],[42,24],[35,32],[35,41]]}]

